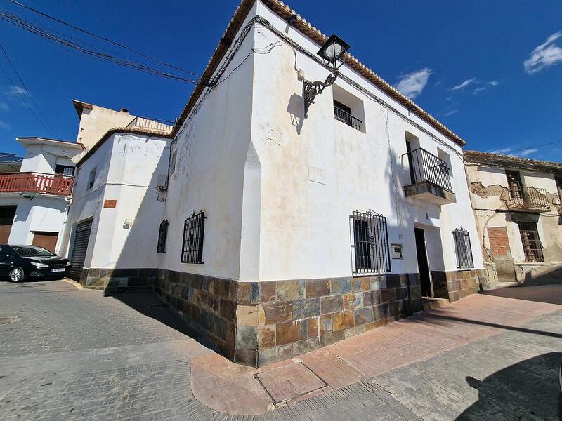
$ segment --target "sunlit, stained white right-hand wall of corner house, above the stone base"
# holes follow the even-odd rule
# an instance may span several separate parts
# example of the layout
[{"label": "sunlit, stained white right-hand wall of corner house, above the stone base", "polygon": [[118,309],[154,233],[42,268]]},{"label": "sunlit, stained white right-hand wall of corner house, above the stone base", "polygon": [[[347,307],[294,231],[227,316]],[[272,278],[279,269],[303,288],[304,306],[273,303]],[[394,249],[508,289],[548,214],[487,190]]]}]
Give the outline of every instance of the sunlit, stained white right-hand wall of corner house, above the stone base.
[{"label": "sunlit, stained white right-hand wall of corner house, above the stone base", "polygon": [[[258,6],[259,15],[278,30],[308,51],[318,51],[318,45],[288,27],[265,6]],[[268,29],[256,30],[256,48],[277,41],[280,39]],[[404,260],[392,260],[393,273],[417,272],[414,224],[440,229],[441,244],[429,242],[428,248],[441,248],[443,254],[430,266],[457,269],[452,231],[462,225],[471,233],[475,268],[483,267],[464,166],[461,156],[455,153],[460,153],[460,147],[410,115],[448,147],[436,142],[341,78],[334,88],[316,97],[304,120],[303,84],[294,69],[293,49],[284,44],[268,54],[256,55],[254,60],[251,137],[261,161],[262,185],[259,279],[350,276],[353,257],[349,215],[353,210],[368,208],[387,217],[390,242],[404,246]],[[311,81],[323,81],[329,74],[299,51],[296,67]],[[341,72],[408,114],[354,72],[345,67]],[[365,133],[334,120],[334,89],[362,101]],[[438,149],[443,149],[450,155],[457,203],[439,207],[419,199],[405,199],[403,186],[410,184],[407,161],[400,159],[406,152],[405,131],[417,136],[420,146],[429,152],[437,155]]]}]

